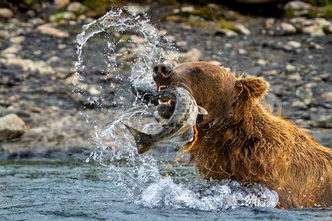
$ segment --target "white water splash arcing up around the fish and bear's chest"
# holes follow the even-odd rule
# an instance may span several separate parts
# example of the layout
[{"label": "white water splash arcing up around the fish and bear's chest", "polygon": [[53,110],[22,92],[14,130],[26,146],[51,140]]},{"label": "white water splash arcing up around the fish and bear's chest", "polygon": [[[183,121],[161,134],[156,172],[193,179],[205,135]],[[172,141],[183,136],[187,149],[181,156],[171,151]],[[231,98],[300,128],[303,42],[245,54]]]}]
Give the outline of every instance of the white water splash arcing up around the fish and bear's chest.
[{"label": "white water splash arcing up around the fish and bear's chest", "polygon": [[[128,87],[129,83],[151,82],[155,64],[172,63],[174,57],[177,62],[177,49],[171,41],[158,34],[147,15],[129,13],[126,8],[111,10],[83,26],[77,42],[76,76],[79,82],[74,91],[95,108],[95,111],[86,109],[82,112],[87,124],[95,127],[92,137],[95,150],[86,162],[92,159],[106,166],[113,183],[127,191],[128,201],[151,208],[195,208],[204,211],[222,211],[240,206],[276,206],[276,192],[261,185],[201,180],[195,169],[188,166],[163,171],[169,159],[158,162],[151,154],[137,154],[133,138],[122,122],[141,131],[149,131],[156,124],[153,117],[155,106],[130,103],[129,92],[124,92],[118,99],[111,97],[114,103],[109,108],[106,105],[109,94],[102,92],[111,88],[118,93],[125,84]],[[104,45],[95,48],[97,51],[94,52],[89,47],[96,43]],[[94,62],[91,59],[95,59]],[[96,83],[92,87],[89,84],[94,79],[91,70],[97,64],[100,65],[97,76],[111,80],[106,85]],[[96,82],[100,80],[96,79]],[[159,155],[167,153],[164,150]],[[171,176],[162,178],[166,172],[170,172]]]}]

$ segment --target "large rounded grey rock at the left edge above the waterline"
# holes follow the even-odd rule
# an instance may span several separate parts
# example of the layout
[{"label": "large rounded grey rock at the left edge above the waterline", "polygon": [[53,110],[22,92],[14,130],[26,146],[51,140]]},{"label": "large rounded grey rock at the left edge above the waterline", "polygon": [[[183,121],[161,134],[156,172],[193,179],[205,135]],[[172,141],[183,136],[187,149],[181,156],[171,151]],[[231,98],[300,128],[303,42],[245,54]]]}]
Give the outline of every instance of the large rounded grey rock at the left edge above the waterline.
[{"label": "large rounded grey rock at the left edge above the waterline", "polygon": [[18,138],[25,133],[25,122],[15,114],[0,117],[0,141]]}]

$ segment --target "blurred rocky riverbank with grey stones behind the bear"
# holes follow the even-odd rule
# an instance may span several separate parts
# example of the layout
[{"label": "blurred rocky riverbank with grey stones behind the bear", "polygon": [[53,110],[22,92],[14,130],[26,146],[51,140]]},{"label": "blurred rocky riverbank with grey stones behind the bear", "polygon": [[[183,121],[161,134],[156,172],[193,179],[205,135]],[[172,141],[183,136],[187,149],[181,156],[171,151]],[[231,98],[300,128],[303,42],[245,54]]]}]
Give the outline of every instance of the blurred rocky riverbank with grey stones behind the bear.
[{"label": "blurred rocky riverbank with grey stones behind the bear", "polygon": [[[284,6],[288,14],[272,18],[215,3],[127,4],[151,15],[159,33],[179,48],[182,62],[214,62],[266,78],[273,110],[282,106],[285,117],[332,147],[332,24],[324,7],[293,1]],[[72,83],[76,35],[98,16],[69,1],[23,12],[0,9],[0,158],[59,157],[93,148],[94,129],[78,112],[94,113],[94,106],[73,92]],[[109,112],[95,115],[109,122],[118,115],[119,94],[129,96],[129,82],[105,76],[97,66],[90,71],[85,94],[108,98],[103,106]],[[96,90],[96,83],[105,90]]]}]

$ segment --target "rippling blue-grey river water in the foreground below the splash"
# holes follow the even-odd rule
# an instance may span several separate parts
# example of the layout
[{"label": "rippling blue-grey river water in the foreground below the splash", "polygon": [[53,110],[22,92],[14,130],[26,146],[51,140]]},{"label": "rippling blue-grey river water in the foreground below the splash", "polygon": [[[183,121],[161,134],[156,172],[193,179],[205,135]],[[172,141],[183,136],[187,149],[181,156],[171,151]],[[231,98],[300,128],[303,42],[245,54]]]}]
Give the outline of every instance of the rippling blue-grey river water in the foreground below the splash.
[{"label": "rippling blue-grey river water in the foreground below the splash", "polygon": [[[191,183],[198,182],[193,171],[191,166],[181,167],[181,176],[173,176],[175,183],[189,178]],[[170,204],[167,208],[162,203],[146,206],[128,198],[127,190],[114,184],[110,172],[106,166],[83,160],[2,161],[0,220],[332,220],[331,209],[204,211]]]}]

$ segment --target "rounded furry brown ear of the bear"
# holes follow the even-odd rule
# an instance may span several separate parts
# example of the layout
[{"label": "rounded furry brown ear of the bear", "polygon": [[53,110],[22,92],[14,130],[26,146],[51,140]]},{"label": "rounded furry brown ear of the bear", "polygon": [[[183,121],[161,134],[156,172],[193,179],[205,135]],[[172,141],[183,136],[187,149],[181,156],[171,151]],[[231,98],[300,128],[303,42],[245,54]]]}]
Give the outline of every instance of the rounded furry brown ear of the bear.
[{"label": "rounded furry brown ear of the bear", "polygon": [[250,77],[237,79],[235,87],[240,90],[239,96],[260,99],[268,92],[269,85],[262,77]]}]

